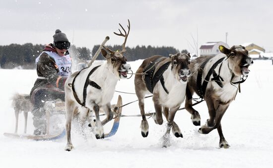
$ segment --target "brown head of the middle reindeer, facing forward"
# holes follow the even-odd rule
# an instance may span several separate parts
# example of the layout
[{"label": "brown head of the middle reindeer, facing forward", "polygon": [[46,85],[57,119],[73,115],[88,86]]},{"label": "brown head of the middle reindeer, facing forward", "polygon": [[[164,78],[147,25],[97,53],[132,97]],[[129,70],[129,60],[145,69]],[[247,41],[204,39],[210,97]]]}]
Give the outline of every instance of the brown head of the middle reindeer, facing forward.
[{"label": "brown head of the middle reindeer, facing forward", "polygon": [[190,53],[177,53],[175,55],[170,54],[170,58],[172,64],[172,73],[179,82],[186,84],[188,78],[191,75],[191,71],[189,69],[191,58]]}]

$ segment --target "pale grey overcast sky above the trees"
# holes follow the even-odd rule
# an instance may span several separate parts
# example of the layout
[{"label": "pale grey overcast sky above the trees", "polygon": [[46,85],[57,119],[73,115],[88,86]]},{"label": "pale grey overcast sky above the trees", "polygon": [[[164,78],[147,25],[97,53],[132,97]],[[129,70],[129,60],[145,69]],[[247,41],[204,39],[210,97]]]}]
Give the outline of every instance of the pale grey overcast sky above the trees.
[{"label": "pale grey overcast sky above the trees", "polygon": [[[0,0],[0,45],[48,44],[56,29],[92,49],[131,21],[127,46],[173,46],[193,52],[208,41],[253,42],[273,52],[273,0]],[[198,40],[197,40],[198,39]]]}]

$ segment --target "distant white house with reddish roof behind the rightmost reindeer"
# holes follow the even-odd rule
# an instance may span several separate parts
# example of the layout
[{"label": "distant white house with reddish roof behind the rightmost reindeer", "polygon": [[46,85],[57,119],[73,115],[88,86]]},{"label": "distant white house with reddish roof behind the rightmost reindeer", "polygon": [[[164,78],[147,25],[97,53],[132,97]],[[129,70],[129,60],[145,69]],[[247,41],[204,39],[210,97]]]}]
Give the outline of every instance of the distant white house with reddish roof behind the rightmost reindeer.
[{"label": "distant white house with reddish roof behind the rightmost reindeer", "polygon": [[226,48],[229,48],[229,46],[221,41],[217,41],[217,42],[207,42],[205,44],[203,44],[200,47],[200,56],[206,56],[206,55],[217,55],[220,53],[219,51],[219,45],[223,45]]}]

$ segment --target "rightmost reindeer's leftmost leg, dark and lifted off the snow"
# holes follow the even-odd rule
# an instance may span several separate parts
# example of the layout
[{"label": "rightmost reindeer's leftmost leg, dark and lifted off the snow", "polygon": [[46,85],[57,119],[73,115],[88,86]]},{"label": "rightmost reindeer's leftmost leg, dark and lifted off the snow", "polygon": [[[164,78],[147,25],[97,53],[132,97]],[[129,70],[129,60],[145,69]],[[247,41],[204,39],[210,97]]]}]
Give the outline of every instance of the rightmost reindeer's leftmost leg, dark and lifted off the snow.
[{"label": "rightmost reindeer's leftmost leg, dark and lifted off the snow", "polygon": [[[192,114],[191,119],[192,119],[193,124],[195,126],[199,126],[199,125],[201,125],[201,121],[200,121],[201,118],[200,118],[199,112],[193,108],[192,95],[193,95],[193,93],[191,91],[187,91],[186,100],[185,100],[185,108],[189,113]],[[189,97],[189,96],[191,96],[191,97]]]}]

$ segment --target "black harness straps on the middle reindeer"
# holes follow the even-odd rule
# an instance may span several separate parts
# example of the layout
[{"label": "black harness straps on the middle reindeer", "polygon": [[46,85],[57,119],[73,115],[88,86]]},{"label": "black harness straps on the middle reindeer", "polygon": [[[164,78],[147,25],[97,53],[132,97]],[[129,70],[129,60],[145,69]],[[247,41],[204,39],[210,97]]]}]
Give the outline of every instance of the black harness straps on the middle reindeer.
[{"label": "black harness straps on the middle reindeer", "polygon": [[161,62],[164,59],[164,57],[156,59],[154,62],[150,62],[150,64],[143,69],[143,72],[145,72],[144,81],[146,84],[147,89],[153,93],[153,89],[158,81],[161,82],[163,89],[166,91],[167,94],[169,94],[169,91],[165,87],[165,82],[163,78],[163,73],[168,69],[171,62],[167,62],[163,64],[157,71],[154,73],[155,68],[159,62]]}]

